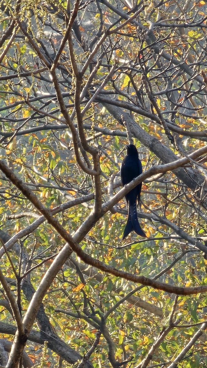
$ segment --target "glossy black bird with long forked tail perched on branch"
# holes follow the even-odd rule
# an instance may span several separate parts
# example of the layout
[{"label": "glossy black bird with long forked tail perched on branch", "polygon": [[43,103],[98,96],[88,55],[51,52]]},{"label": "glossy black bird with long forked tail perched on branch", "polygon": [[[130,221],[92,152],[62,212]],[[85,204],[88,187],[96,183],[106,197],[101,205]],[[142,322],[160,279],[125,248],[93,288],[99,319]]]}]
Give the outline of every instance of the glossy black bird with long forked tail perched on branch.
[{"label": "glossy black bird with long forked tail perched on branch", "polygon": [[[126,185],[130,183],[134,178],[142,174],[142,163],[138,156],[138,151],[133,144],[129,144],[126,146],[127,155],[122,161],[120,174],[122,185]],[[139,203],[140,193],[141,193],[142,183],[138,184],[135,188],[133,188],[129,193],[126,194],[126,201],[128,203],[128,220],[126,223],[126,227],[123,234],[124,238],[131,233],[132,230],[135,231],[140,236],[146,238],[146,234],[141,229],[137,212],[136,212],[136,203]]]}]

